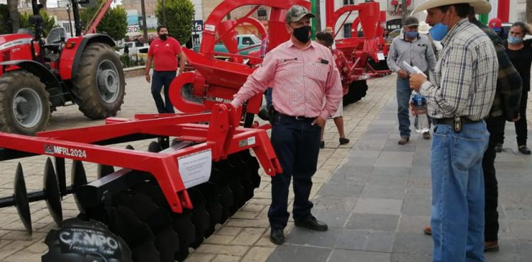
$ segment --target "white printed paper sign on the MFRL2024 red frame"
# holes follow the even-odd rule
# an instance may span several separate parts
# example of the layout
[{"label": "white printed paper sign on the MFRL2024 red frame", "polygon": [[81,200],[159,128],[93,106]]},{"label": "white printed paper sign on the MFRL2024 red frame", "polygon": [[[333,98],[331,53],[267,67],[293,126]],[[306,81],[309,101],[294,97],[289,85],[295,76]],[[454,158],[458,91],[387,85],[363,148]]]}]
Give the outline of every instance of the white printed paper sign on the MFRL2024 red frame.
[{"label": "white printed paper sign on the MFRL2024 red frame", "polygon": [[184,183],[184,188],[192,188],[209,181],[211,177],[212,152],[211,149],[179,156],[177,166]]}]

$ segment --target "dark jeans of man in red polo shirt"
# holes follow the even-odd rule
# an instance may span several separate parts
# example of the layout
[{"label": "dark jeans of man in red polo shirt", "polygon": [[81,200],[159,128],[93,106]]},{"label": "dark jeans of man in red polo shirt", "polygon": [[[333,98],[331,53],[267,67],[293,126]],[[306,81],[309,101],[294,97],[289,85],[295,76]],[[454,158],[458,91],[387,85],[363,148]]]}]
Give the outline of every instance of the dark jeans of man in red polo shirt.
[{"label": "dark jeans of man in red polo shirt", "polygon": [[[170,83],[176,76],[175,71],[153,71],[152,76],[152,96],[155,100],[155,106],[157,106],[157,112],[159,113],[175,113],[174,106],[170,102],[170,96],[168,96],[168,89],[170,89]],[[161,89],[165,86],[165,101],[162,101]]]}]

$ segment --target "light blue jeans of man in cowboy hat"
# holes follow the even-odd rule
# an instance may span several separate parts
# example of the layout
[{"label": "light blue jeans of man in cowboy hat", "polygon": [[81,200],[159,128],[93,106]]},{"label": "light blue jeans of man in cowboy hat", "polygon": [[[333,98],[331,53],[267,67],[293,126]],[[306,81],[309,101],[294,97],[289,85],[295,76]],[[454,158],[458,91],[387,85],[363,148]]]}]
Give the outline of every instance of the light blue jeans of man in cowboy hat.
[{"label": "light blue jeans of man in cowboy hat", "polygon": [[484,261],[484,120],[436,125],[431,152],[433,261]]}]

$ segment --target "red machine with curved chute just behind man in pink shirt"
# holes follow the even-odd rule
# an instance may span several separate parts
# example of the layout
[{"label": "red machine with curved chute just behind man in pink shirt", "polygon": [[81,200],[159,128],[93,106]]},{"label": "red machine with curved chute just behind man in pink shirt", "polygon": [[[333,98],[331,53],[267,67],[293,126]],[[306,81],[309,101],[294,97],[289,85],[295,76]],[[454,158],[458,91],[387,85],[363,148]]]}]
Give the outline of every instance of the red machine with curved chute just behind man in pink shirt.
[{"label": "red machine with curved chute just behind man in pink shirt", "polygon": [[[289,40],[289,34],[285,28],[285,16],[288,8],[294,4],[311,7],[309,1],[304,0],[226,0],[222,1],[211,12],[209,18],[204,23],[203,38],[199,48],[199,54],[189,50],[184,50],[189,64],[192,64],[196,70],[187,74],[179,74],[170,85],[170,100],[174,106],[186,113],[201,112],[209,110],[214,103],[220,100],[231,101],[233,95],[238,92],[245,80],[255,71],[255,67],[242,64],[244,59],[248,59],[249,64],[260,64],[262,58],[255,56],[238,55],[238,47],[235,42],[235,27],[240,23],[252,23],[254,25],[262,23],[250,20],[250,15],[260,6],[270,6],[270,19],[268,21],[268,40],[267,50],[277,47]],[[255,6],[246,16],[239,18],[237,21],[223,21],[227,14],[241,6]],[[223,21],[223,22],[222,22]],[[266,33],[261,29],[261,33]],[[214,45],[222,40],[230,53],[214,52]],[[230,57],[230,61],[221,61],[216,56],[223,55]],[[183,87],[187,84],[192,85],[192,95],[202,98],[203,103],[190,101],[184,96]],[[262,103],[262,94],[257,94],[248,101],[246,111],[248,113],[258,113]]]}]

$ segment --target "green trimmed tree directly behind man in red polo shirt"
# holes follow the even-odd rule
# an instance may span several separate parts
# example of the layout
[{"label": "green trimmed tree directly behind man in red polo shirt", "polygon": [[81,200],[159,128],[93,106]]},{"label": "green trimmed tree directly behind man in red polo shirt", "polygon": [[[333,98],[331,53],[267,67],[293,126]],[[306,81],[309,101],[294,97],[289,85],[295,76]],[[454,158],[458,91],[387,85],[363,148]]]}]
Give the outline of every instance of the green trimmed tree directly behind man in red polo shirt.
[{"label": "green trimmed tree directly behind man in red polo shirt", "polygon": [[[165,0],[165,14],[168,34],[184,45],[192,37],[194,4],[190,0]],[[157,0],[155,16],[162,24],[161,0]]]}]

